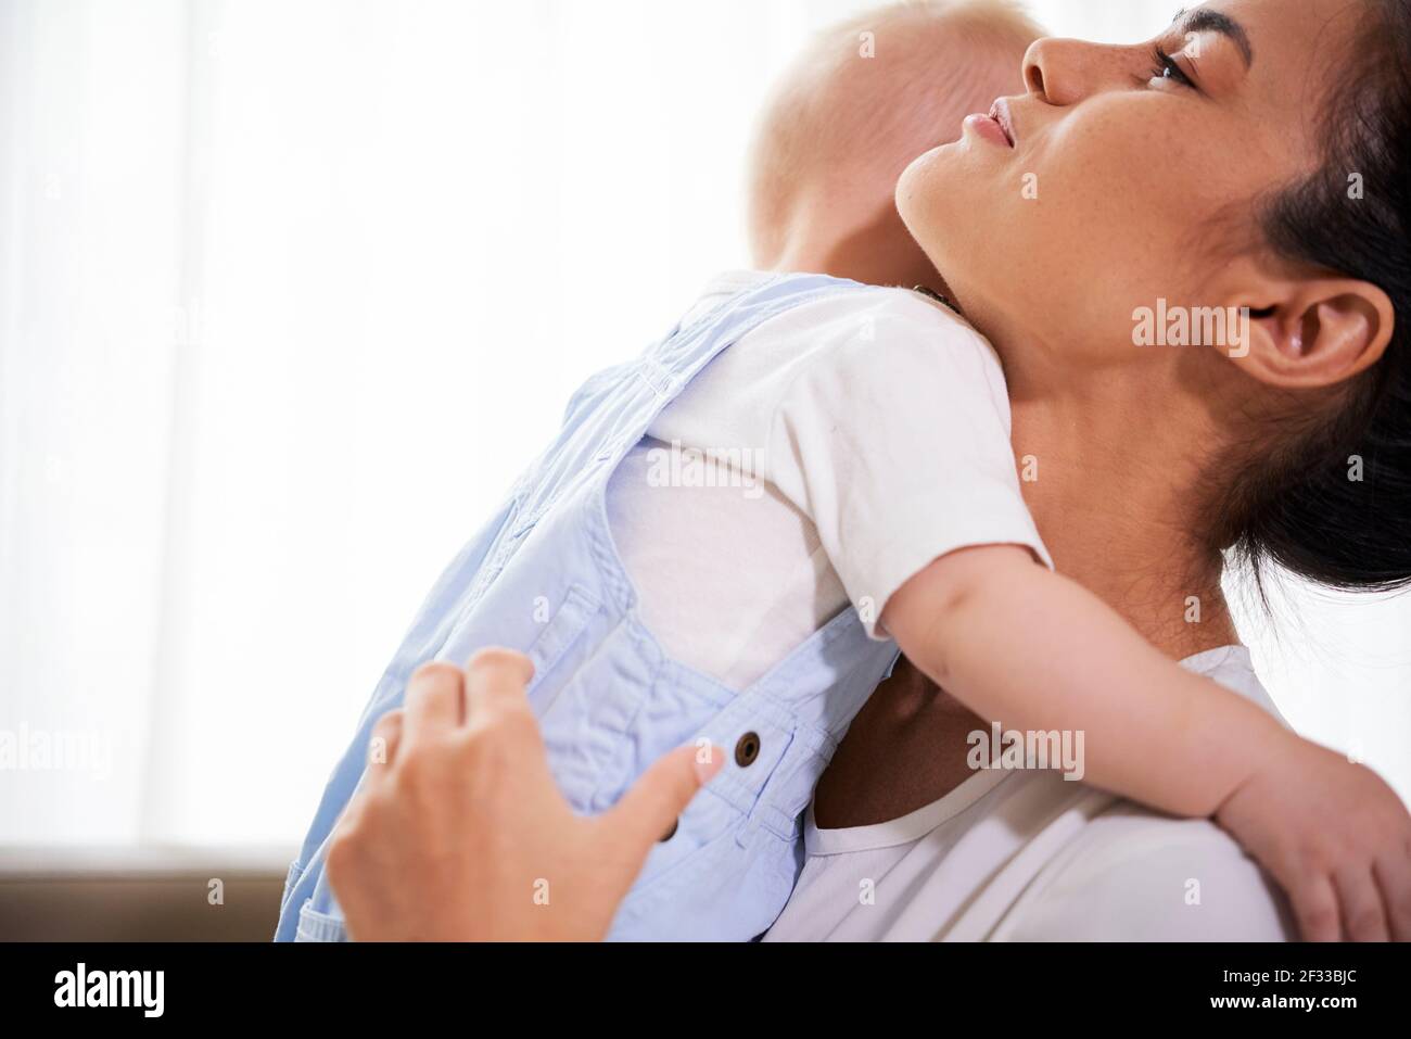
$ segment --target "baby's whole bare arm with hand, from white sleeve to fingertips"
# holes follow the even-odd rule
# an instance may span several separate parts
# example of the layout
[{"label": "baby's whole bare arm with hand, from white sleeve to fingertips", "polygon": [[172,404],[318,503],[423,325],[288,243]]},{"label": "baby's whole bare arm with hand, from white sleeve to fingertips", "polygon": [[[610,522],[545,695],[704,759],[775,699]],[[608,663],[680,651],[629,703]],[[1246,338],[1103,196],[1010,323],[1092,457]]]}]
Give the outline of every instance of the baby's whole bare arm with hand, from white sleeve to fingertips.
[{"label": "baby's whole bare arm with hand, from white sleeve to fingertips", "polygon": [[886,603],[907,658],[1006,728],[1081,728],[1085,781],[1215,816],[1288,892],[1305,937],[1411,937],[1411,817],[1370,771],[1163,656],[1027,549],[952,552]]}]

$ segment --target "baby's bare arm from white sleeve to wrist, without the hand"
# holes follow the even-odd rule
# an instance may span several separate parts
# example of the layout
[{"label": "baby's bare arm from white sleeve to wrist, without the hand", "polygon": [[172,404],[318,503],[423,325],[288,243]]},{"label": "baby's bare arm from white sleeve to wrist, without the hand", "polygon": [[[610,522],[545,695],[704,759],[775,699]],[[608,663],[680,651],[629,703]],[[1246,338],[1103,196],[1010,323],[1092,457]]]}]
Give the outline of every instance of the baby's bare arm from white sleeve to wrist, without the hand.
[{"label": "baby's bare arm from white sleeve to wrist, without the hand", "polygon": [[1086,782],[1174,815],[1212,815],[1297,741],[1023,548],[935,560],[892,596],[882,623],[975,713],[1020,731],[1082,730]]}]

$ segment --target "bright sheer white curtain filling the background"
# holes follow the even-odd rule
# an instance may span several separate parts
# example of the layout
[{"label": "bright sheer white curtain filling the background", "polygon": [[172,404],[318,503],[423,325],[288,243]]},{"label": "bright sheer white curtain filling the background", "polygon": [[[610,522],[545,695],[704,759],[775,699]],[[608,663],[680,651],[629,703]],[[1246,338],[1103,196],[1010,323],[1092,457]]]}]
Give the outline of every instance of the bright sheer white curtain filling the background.
[{"label": "bright sheer white curtain filling the background", "polygon": [[[865,6],[0,0],[0,841],[298,837],[569,391],[745,261],[752,113]],[[1308,617],[1281,703],[1411,791],[1411,611]]]}]

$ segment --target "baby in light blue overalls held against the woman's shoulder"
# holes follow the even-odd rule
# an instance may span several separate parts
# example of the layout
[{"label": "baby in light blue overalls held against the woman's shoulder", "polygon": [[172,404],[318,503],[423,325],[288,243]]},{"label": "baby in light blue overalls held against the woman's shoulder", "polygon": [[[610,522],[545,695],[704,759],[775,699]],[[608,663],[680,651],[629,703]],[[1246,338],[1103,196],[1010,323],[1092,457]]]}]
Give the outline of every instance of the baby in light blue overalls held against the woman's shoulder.
[{"label": "baby in light blue overalls held against the woman's shoulder", "polygon": [[[618,939],[770,926],[818,775],[899,649],[1007,728],[1084,730],[1094,785],[1185,816],[1240,798],[1235,836],[1284,879],[1316,820],[1297,791],[1264,793],[1266,762],[1304,764],[1325,805],[1371,796],[1357,769],[1053,572],[993,349],[910,289],[944,285],[896,216],[897,175],[1020,89],[1036,35],[1005,4],[912,4],[824,34],[796,66],[761,131],[752,241],[762,267],[823,274],[725,275],[574,395],[374,692],[291,870],[279,939],[344,937],[323,860],[378,759],[371,728],[418,666],[485,645],[533,662],[531,704],[579,812],[615,803],[673,747],[729,748],[648,858]],[[1072,647],[1088,663],[1057,666]],[[1349,853],[1329,868],[1369,865]],[[526,877],[525,896],[552,885]]]}]

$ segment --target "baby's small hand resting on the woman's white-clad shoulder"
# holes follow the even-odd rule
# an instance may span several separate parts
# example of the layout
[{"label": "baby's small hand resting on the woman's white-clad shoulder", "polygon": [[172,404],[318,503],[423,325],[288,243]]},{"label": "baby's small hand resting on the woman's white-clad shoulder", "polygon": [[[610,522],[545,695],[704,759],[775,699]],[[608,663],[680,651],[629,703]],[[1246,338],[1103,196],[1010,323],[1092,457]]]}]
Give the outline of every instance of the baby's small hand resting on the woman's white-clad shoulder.
[{"label": "baby's small hand resting on the woman's white-clad shoulder", "polygon": [[1411,815],[1371,769],[1298,740],[1215,819],[1288,892],[1305,940],[1411,940]]}]

